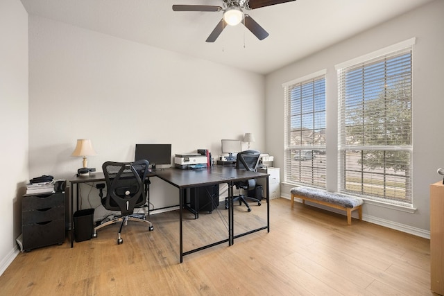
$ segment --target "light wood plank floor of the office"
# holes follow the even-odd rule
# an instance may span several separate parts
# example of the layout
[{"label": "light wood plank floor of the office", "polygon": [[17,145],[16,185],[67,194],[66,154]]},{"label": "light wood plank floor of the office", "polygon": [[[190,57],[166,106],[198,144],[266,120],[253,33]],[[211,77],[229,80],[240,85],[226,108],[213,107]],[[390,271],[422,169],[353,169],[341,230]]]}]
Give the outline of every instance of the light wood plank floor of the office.
[{"label": "light wood plank floor of the office", "polygon": [[[179,263],[178,212],[151,215],[154,231],[128,223],[90,241],[20,253],[0,277],[0,295],[434,295],[429,240],[279,198],[271,232],[242,236]],[[221,207],[223,208],[223,207]],[[241,224],[264,223],[266,203]],[[226,236],[224,209],[185,215],[184,250]],[[205,232],[206,231],[206,232]]]}]

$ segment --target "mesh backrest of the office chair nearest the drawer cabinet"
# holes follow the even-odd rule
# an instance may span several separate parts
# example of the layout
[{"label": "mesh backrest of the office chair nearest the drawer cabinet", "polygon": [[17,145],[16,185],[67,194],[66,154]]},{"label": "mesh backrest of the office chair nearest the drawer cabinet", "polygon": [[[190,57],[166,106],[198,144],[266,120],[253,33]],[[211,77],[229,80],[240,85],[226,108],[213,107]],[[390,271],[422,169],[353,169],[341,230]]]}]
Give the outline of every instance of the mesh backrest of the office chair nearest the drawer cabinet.
[{"label": "mesh backrest of the office chair nearest the drawer cabinet", "polygon": [[146,202],[144,180],[148,173],[148,161],[105,162],[102,165],[107,195],[102,200],[105,209],[120,210],[122,216],[133,214],[134,208]]}]

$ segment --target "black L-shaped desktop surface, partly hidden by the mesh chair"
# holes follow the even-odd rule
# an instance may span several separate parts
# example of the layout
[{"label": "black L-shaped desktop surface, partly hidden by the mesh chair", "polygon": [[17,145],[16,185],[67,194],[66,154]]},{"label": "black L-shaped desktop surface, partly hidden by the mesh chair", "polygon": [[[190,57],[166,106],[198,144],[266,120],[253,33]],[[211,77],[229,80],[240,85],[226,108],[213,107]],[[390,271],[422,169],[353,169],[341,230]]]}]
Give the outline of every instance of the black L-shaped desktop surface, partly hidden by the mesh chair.
[{"label": "black L-shaped desktop surface, partly hidden by the mesh chair", "polygon": [[[196,168],[182,170],[180,168],[161,168],[148,173],[148,177],[160,179],[178,188],[187,188],[201,185],[220,184],[229,181],[242,181],[259,177],[267,177],[268,173],[258,173],[246,170],[237,170],[229,166],[211,166],[210,168]],[[76,176],[69,180],[71,184],[101,182],[105,180],[102,172],[91,173],[86,176]]]}]

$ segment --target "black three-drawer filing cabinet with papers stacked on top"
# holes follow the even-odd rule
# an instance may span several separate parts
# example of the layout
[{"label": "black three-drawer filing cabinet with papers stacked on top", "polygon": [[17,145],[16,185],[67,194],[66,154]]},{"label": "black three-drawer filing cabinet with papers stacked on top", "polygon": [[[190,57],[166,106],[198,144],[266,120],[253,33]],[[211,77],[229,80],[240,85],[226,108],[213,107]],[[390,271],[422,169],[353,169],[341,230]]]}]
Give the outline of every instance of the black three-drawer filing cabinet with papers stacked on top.
[{"label": "black three-drawer filing cabinet with papers stacked on top", "polygon": [[26,194],[22,197],[23,250],[65,241],[65,193]]}]

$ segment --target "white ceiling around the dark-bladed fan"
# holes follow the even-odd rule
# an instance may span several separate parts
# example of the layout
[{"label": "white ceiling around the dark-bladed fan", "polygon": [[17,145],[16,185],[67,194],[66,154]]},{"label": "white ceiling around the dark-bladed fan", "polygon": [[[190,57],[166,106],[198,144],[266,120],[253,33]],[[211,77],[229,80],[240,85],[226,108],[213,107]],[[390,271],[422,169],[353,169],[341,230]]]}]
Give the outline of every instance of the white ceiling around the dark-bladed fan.
[{"label": "white ceiling around the dark-bladed fan", "polygon": [[270,35],[243,25],[205,40],[222,12],[173,12],[173,4],[223,6],[222,0],[21,0],[38,15],[221,64],[270,73],[432,0],[297,0],[244,10]]}]

